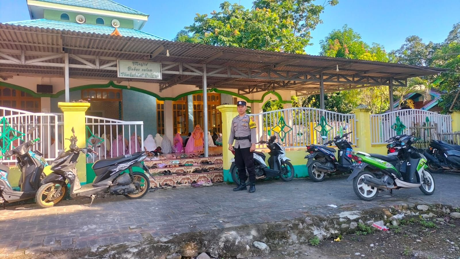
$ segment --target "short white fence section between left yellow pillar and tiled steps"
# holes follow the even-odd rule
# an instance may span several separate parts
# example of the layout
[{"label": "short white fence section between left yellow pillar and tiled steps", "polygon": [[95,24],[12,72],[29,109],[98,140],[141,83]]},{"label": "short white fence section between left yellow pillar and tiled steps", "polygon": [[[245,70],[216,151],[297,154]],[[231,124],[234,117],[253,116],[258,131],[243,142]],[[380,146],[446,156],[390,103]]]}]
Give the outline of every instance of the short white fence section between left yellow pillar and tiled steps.
[{"label": "short white fence section between left yellow pillar and tiled steps", "polygon": [[87,163],[144,151],[144,122],[122,121],[94,116],[86,117],[86,146],[99,143]]}]

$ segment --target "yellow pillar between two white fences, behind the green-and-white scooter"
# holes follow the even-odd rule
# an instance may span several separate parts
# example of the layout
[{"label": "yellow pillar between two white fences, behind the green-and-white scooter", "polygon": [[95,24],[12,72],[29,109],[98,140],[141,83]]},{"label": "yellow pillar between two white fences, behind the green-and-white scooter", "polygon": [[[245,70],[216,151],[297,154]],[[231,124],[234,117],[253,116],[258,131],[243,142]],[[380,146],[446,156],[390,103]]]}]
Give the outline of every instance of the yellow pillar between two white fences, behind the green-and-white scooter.
[{"label": "yellow pillar between two white fences, behind the green-and-white scooter", "polygon": [[356,118],[356,150],[362,152],[371,152],[371,109],[356,108],[352,113],[355,113]]}]

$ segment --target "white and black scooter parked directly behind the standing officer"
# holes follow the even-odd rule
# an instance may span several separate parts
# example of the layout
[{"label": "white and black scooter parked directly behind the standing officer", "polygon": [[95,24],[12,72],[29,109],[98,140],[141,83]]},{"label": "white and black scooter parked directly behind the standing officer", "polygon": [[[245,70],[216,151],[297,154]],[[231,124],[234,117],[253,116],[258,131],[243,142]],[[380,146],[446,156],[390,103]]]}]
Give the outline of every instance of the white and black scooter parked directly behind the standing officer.
[{"label": "white and black scooter parked directly behind the standing officer", "polygon": [[[294,178],[294,167],[289,162],[291,159],[286,157],[286,152],[280,143],[275,142],[276,136],[271,136],[268,141],[259,141],[257,144],[267,144],[270,149],[268,154],[268,167],[265,164],[265,154],[263,152],[253,152],[254,156],[254,170],[256,172],[256,179],[264,179],[268,177],[280,177],[283,181],[290,181]],[[233,152],[235,154],[235,152]],[[230,160],[230,174],[231,178],[236,185],[240,185],[240,177],[238,176],[238,168],[236,168],[235,158]],[[249,185],[249,174],[246,171],[246,185]]]}]

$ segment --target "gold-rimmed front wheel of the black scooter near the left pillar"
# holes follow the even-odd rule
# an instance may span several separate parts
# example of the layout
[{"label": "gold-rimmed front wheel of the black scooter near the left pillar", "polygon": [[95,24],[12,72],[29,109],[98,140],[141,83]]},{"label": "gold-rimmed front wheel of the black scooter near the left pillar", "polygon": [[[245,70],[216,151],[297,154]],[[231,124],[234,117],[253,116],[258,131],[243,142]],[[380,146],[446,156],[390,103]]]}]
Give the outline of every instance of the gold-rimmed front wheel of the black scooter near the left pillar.
[{"label": "gold-rimmed front wheel of the black scooter near the left pillar", "polygon": [[[58,197],[53,197],[57,188],[62,186],[61,191]],[[51,208],[64,198],[65,194],[67,193],[67,184],[62,181],[52,181],[50,183],[46,183],[40,188],[38,188],[37,193],[35,193],[35,202],[41,208]]]}]

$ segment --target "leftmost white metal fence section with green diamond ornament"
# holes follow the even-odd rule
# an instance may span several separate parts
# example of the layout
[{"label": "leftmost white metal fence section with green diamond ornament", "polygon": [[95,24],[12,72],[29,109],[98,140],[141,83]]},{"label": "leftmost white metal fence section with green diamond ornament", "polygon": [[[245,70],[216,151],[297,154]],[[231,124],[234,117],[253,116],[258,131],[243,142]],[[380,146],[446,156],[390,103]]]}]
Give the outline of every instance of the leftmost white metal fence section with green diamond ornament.
[{"label": "leftmost white metal fence section with green diamond ornament", "polygon": [[[63,149],[64,122],[62,113],[30,113],[8,107],[0,107],[0,119],[3,118],[5,118],[5,124],[0,125],[2,136],[0,145],[2,147],[5,145],[4,148],[6,151],[23,144],[24,141],[40,138],[40,142],[36,143],[31,150],[38,150],[43,153],[43,157],[49,163]],[[7,133],[8,126],[12,129],[9,133]],[[35,126],[37,126],[37,129],[31,135],[27,135],[27,131]],[[24,135],[21,136],[22,134]],[[16,136],[21,137],[16,138]],[[10,142],[9,145],[8,142]],[[14,165],[16,158],[12,156],[6,158],[4,162],[8,165]]]}]

